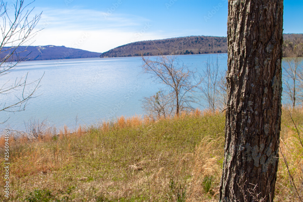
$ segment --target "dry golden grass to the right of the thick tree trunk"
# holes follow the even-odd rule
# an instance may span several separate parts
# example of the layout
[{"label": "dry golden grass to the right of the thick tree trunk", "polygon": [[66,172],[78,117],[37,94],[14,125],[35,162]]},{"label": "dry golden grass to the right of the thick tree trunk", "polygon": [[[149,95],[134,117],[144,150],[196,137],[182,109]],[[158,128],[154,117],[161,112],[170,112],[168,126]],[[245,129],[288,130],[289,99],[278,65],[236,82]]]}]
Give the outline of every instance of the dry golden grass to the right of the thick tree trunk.
[{"label": "dry golden grass to the right of the thick tree trunk", "polygon": [[[295,125],[298,127],[298,131]],[[301,109],[284,110],[281,124],[280,161],[275,191],[275,198],[279,201],[303,201],[303,146],[299,140],[301,138],[302,141],[303,137],[302,126],[303,112]],[[291,178],[293,179],[292,183],[290,183]]]}]

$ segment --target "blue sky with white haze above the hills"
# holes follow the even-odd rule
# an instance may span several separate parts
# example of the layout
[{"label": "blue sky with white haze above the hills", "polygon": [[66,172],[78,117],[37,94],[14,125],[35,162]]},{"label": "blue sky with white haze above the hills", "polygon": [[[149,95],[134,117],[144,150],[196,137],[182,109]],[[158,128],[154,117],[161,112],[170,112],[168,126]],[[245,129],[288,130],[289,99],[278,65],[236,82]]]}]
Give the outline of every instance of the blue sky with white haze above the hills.
[{"label": "blue sky with white haze above the hills", "polygon": [[[29,41],[35,46],[102,53],[135,41],[227,36],[228,0],[36,0],[33,7],[42,12],[42,30]],[[284,0],[284,33],[303,33],[302,11],[303,1]]]}]

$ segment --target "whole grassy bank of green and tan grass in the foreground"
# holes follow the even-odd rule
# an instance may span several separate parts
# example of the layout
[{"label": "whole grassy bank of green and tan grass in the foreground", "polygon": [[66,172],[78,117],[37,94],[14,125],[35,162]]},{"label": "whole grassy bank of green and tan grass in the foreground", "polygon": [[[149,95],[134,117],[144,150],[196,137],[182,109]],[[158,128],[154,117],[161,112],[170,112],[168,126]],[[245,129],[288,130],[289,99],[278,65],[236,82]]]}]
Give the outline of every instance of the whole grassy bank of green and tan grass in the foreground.
[{"label": "whole grassy bank of green and tan grass in the foreground", "polygon": [[[303,124],[302,111],[294,111],[293,118]],[[303,151],[289,125],[283,111],[282,151],[298,166]],[[224,114],[196,111],[156,122],[121,117],[74,133],[65,128],[34,142],[11,137],[8,201],[218,201],[224,127]],[[0,145],[4,165],[4,138]],[[276,195],[295,201],[282,161]],[[3,192],[0,198],[5,200]]]}]

